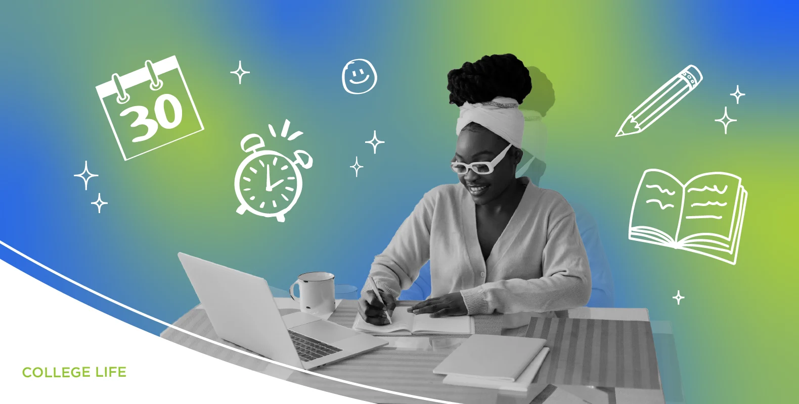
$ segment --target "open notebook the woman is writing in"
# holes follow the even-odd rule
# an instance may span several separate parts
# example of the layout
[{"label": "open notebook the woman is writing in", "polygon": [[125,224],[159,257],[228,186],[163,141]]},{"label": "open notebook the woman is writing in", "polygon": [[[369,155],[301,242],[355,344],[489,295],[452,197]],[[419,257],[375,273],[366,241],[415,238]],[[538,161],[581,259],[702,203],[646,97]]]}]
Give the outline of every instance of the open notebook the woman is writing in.
[{"label": "open notebook the woman is writing in", "polygon": [[397,307],[391,324],[376,326],[356,315],[352,328],[372,335],[474,334],[475,321],[469,315],[433,319],[428,314],[415,315],[407,312],[407,307]]}]

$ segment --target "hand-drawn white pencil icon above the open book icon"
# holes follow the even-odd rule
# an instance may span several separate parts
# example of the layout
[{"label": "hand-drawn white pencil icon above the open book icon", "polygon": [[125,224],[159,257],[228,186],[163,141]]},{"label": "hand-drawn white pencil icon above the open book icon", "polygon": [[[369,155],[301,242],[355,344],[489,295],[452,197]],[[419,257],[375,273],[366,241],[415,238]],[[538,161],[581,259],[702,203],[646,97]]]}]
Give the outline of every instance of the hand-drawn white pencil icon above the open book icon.
[{"label": "hand-drawn white pencil icon above the open book icon", "polygon": [[702,72],[697,69],[697,66],[688,65],[682,69],[682,72],[666,81],[666,84],[652,93],[649,98],[646,98],[646,101],[638,105],[638,108],[634,109],[624,120],[616,137],[643,132],[674,105],[677,105],[688,93],[694,91],[700,82],[702,82]]}]

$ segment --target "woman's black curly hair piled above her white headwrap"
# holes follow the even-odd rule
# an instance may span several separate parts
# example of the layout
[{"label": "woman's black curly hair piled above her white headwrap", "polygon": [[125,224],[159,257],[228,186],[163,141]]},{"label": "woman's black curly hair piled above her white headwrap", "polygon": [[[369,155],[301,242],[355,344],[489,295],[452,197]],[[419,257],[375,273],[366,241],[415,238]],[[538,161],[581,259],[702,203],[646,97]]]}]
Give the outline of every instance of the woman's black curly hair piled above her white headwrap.
[{"label": "woman's black curly hair piled above her white headwrap", "polygon": [[530,72],[512,53],[483,56],[479,61],[463,63],[447,74],[450,104],[487,102],[495,97],[509,97],[519,104],[532,89]]}]

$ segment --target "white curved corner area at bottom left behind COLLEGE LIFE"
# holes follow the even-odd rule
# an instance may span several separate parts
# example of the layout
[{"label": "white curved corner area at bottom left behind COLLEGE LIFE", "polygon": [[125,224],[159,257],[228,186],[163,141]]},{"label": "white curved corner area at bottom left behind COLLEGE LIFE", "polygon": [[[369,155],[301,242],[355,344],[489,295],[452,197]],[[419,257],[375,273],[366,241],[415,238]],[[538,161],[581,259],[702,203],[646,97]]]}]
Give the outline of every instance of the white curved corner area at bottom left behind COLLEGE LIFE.
[{"label": "white curved corner area at bottom left behind COLLEGE LIFE", "polygon": [[[6,252],[5,248],[0,249]],[[9,258],[15,259],[13,255],[10,254]],[[27,266],[31,272],[37,272],[49,281],[63,283],[39,267],[22,261],[24,259],[18,260],[20,268]],[[367,401],[289,382],[287,378],[293,374],[292,370],[280,366],[258,362],[258,368],[265,369],[254,372],[200,351],[181,349],[169,339],[160,338],[73,299],[48,286],[44,280],[36,279],[0,259],[0,285],[6,286],[0,294],[0,306],[11,307],[3,311],[3,320],[6,324],[14,324],[14,331],[17,331],[6,332],[0,339],[4,346],[14,347],[3,353],[2,364],[4,372],[9,370],[6,379],[12,375],[18,378],[18,382],[2,385],[3,402],[70,401],[64,397],[79,397],[80,402],[108,402],[109,397],[121,395],[121,383],[125,385],[125,393],[123,399],[117,400],[120,402],[153,401],[154,391],[157,391],[158,402],[264,402],[264,391],[268,391],[269,402],[368,404]],[[65,287],[75,289],[72,285]],[[58,338],[53,338],[54,335]],[[91,337],[86,338],[86,335]],[[203,345],[208,346],[206,343]],[[80,352],[79,362],[75,361],[77,352]],[[36,359],[32,356],[46,358],[50,366],[42,366],[43,362],[32,363],[32,359]],[[112,357],[113,361],[107,360]],[[52,366],[62,363],[72,365],[67,367],[68,372]],[[109,365],[117,365],[113,366],[116,368],[113,374]],[[42,374],[42,367],[50,370],[49,376]],[[47,377],[50,382],[46,384],[50,385],[58,382],[59,376],[64,382],[58,382],[54,388],[31,388],[31,383],[37,380],[33,376],[37,368],[42,372],[38,373],[42,374],[39,382],[46,382]],[[264,378],[264,372],[272,377]],[[23,378],[19,378],[20,373]],[[117,378],[122,375],[125,378]],[[66,382],[66,376],[74,381]],[[76,376],[79,380],[74,379]],[[307,378],[303,374],[300,376]],[[377,393],[372,390],[360,393],[361,396],[367,394],[374,396]],[[385,397],[385,394],[380,395]]]}]

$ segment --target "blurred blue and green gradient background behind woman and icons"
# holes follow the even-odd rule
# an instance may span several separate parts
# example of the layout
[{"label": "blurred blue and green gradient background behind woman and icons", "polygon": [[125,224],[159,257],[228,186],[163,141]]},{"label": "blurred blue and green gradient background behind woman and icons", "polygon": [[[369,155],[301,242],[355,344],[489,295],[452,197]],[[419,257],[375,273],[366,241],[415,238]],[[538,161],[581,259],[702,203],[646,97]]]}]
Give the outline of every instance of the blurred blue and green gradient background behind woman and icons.
[{"label": "blurred blue and green gradient background behind woman and icons", "polygon": [[[424,192],[455,182],[449,69],[515,53],[555,85],[542,186],[590,209],[617,307],[674,326],[687,402],[789,402],[797,333],[797,8],[758,2],[14,2],[2,16],[0,240],[172,323],[197,303],[177,252],[286,288],[304,271],[360,286]],[[205,131],[123,161],[95,85],[177,55]],[[362,95],[347,61],[379,73]],[[230,72],[241,60],[242,84]],[[693,93],[644,133],[630,110],[686,65]],[[735,86],[746,93],[741,104]],[[737,119],[724,134],[727,106]],[[237,215],[239,141],[264,137],[313,168],[286,222]],[[386,141],[377,154],[364,141]],[[157,136],[157,135],[156,135]],[[364,168],[356,178],[350,165]],[[73,174],[83,161],[89,190]],[[642,172],[732,172],[749,191],[738,263],[627,240]],[[97,214],[89,204],[109,202]],[[12,252],[0,258],[153,333]],[[686,299],[678,306],[677,290]],[[24,304],[24,302],[21,302]]]}]

